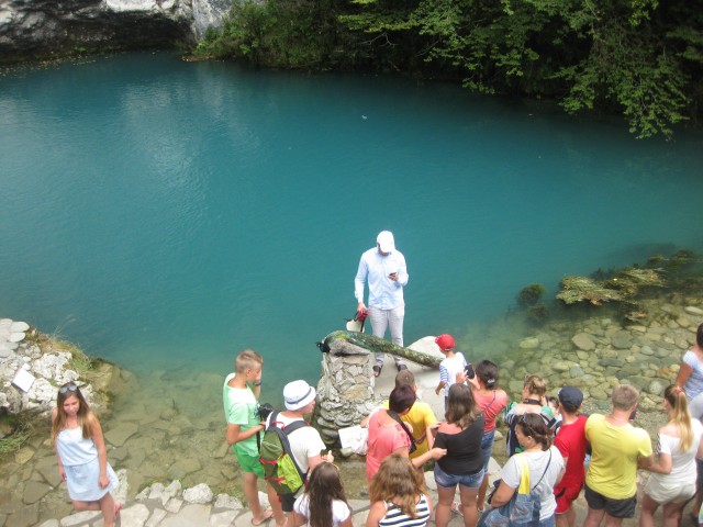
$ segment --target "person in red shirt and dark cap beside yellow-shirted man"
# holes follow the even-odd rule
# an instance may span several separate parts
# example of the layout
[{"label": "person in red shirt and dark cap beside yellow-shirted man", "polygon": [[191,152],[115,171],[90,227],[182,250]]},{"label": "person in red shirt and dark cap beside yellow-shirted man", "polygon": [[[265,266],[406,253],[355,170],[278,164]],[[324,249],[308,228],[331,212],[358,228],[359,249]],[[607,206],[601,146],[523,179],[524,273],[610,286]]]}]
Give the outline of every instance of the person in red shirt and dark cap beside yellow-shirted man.
[{"label": "person in red shirt and dark cap beside yellow-shirted man", "polygon": [[583,460],[588,441],[585,440],[585,415],[579,415],[583,393],[574,386],[563,386],[559,390],[559,413],[561,415],[561,426],[556,435],[554,446],[559,449],[566,473],[554,489],[557,497],[556,520],[557,527],[573,527],[576,525],[576,509],[573,501],[579,497],[579,493],[585,481],[585,469]]}]

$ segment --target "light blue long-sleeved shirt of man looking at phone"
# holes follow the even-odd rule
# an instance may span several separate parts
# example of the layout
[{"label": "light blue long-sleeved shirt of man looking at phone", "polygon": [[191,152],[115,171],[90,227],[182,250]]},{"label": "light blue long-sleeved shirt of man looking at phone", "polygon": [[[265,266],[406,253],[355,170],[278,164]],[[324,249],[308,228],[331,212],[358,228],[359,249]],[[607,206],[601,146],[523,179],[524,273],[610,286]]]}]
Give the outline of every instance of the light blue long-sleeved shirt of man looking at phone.
[{"label": "light blue long-sleeved shirt of man looking at phone", "polygon": [[[398,272],[398,281],[388,276]],[[354,294],[357,302],[364,302],[364,287],[369,284],[370,307],[393,310],[405,305],[403,285],[408,283],[405,257],[400,250],[393,249],[388,256],[381,256],[377,247],[361,255],[359,270],[354,279]]]}]

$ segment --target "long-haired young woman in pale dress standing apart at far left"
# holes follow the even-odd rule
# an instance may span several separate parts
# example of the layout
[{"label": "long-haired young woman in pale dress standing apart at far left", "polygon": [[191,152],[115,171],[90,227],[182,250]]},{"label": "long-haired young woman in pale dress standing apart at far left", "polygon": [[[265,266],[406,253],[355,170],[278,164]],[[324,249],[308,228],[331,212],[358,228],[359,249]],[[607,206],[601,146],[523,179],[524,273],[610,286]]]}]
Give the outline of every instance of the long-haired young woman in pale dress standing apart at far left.
[{"label": "long-haired young woman in pale dress standing apart at far left", "polygon": [[101,511],[103,525],[114,526],[122,504],[114,502],[110,491],[119,486],[118,476],[108,463],[100,422],[74,382],[58,389],[52,411],[52,442],[74,508]]}]

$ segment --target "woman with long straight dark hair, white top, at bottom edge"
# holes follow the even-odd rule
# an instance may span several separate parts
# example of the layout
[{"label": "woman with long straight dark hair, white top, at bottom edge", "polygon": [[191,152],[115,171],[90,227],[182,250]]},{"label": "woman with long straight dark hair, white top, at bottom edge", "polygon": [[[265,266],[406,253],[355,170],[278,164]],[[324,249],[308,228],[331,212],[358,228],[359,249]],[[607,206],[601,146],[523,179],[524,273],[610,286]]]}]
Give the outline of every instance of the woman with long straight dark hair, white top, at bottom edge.
[{"label": "woman with long straight dark hair, white top, at bottom edge", "polygon": [[293,504],[289,523],[292,527],[353,527],[352,509],[335,464],[323,461],[313,469],[305,493]]}]

